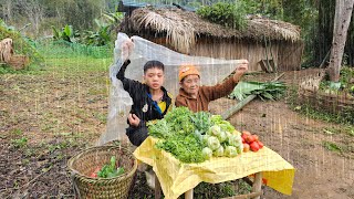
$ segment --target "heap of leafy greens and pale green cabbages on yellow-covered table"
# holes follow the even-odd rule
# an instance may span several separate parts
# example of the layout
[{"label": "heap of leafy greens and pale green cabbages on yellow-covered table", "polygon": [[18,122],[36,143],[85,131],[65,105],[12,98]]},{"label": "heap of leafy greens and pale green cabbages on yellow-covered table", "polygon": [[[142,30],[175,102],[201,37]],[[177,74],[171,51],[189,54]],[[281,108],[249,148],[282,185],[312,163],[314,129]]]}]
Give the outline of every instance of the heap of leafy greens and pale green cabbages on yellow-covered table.
[{"label": "heap of leafy greens and pale green cabbages on yellow-covered table", "polygon": [[243,150],[241,133],[220,115],[176,107],[163,119],[148,122],[147,125],[149,135],[159,138],[156,147],[183,163],[236,157]]}]

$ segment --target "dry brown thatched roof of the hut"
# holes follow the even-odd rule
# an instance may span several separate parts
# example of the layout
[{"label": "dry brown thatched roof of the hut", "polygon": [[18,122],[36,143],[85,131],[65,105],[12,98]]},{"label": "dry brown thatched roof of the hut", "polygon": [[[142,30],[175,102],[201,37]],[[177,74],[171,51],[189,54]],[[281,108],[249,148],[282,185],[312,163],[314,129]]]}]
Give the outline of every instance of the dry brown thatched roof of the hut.
[{"label": "dry brown thatched roof of the hut", "polygon": [[199,18],[195,12],[180,9],[140,8],[133,11],[129,23],[133,31],[153,30],[166,33],[167,40],[176,49],[185,51],[196,43],[198,36],[236,38],[263,41],[300,40],[300,28],[288,22],[262,18],[248,19],[248,27],[240,31],[228,29]]}]

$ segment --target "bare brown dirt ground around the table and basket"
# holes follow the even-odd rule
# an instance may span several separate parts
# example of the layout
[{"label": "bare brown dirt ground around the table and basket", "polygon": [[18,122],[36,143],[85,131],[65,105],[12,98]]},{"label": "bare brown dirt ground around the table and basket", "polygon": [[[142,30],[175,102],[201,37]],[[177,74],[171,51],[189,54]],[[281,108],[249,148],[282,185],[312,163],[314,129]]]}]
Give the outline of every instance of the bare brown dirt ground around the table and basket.
[{"label": "bare brown dirt ground around the table and basket", "polygon": [[[288,72],[280,81],[295,85],[315,72]],[[0,76],[0,198],[74,198],[66,161],[93,146],[105,129],[106,76],[87,72],[77,78],[56,67],[51,73]],[[289,103],[254,100],[230,118],[237,129],[258,134],[296,168],[292,196],[264,187],[262,198],[354,198],[354,136],[344,126],[298,114]],[[232,104],[221,98],[210,111],[219,114]],[[345,150],[330,151],[324,142]],[[137,184],[142,180],[140,175]],[[139,191],[137,198],[152,195],[146,186],[134,190]]]}]

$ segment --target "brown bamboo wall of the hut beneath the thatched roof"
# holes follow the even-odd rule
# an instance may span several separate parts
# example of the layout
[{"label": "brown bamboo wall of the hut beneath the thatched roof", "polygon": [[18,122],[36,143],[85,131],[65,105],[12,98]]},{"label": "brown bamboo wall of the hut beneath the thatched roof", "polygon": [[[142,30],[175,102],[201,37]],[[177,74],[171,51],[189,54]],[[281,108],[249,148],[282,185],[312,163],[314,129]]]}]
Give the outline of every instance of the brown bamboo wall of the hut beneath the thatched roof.
[{"label": "brown bamboo wall of the hut beneath the thatched roof", "polygon": [[[174,49],[170,44],[166,43],[165,38],[147,39]],[[267,60],[268,56],[269,60],[272,59],[274,61],[278,71],[294,71],[300,70],[302,51],[302,42],[272,42],[266,51],[264,42],[199,38],[197,39],[197,44],[190,51],[190,55],[226,60],[247,59],[249,61],[249,71],[261,71],[259,62]],[[266,52],[268,53],[266,54]]]}]

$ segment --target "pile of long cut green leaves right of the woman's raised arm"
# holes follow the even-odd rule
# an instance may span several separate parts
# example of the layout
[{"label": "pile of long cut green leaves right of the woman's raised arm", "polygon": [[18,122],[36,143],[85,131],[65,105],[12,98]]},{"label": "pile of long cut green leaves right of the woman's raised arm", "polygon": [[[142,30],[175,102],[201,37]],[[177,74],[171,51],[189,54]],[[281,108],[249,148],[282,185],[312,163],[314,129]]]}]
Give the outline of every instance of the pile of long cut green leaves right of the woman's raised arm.
[{"label": "pile of long cut green leaves right of the woman's raised arm", "polygon": [[240,82],[229,97],[242,101],[249,95],[257,95],[262,101],[277,101],[284,95],[285,91],[287,86],[282,82]]}]

